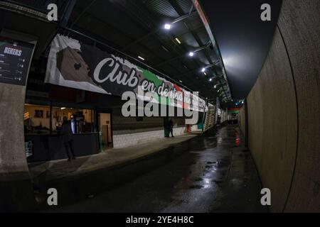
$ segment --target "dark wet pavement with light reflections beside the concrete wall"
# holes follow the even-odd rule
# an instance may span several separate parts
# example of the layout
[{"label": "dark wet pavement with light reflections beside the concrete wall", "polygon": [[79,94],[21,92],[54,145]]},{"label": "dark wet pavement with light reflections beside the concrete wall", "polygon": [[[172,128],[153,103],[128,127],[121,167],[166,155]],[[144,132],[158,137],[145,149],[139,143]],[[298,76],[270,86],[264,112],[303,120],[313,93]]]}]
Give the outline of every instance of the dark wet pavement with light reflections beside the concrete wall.
[{"label": "dark wet pavement with light reflections beside the concrete wall", "polygon": [[[54,211],[265,212],[255,165],[241,143],[238,127],[225,126],[121,170],[102,172],[100,178],[123,181]],[[100,178],[78,181],[93,185]]]}]

